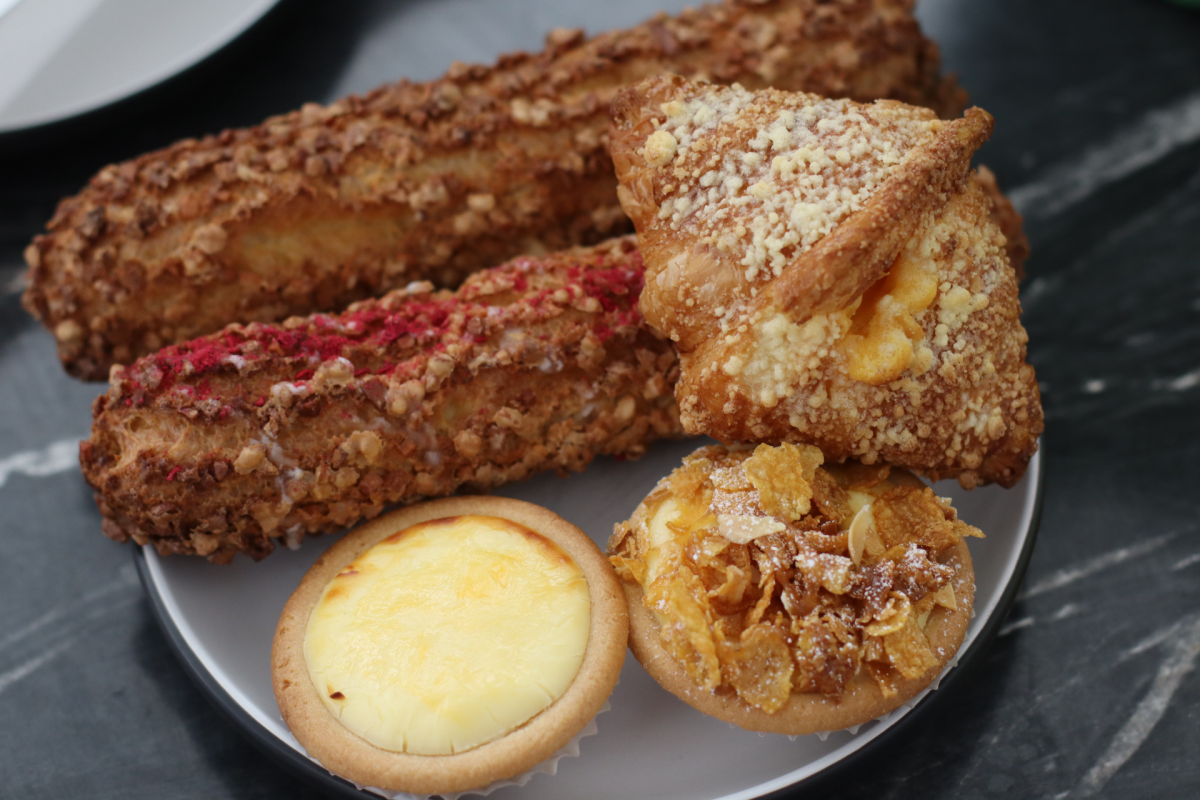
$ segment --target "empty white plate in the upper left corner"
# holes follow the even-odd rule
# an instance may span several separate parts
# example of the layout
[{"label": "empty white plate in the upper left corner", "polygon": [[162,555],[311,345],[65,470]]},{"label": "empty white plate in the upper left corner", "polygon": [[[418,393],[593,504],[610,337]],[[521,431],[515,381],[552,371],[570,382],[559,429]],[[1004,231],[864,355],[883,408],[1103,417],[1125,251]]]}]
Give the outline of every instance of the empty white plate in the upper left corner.
[{"label": "empty white plate in the upper left corner", "polygon": [[0,133],[148,89],[228,44],[277,0],[0,0]]}]

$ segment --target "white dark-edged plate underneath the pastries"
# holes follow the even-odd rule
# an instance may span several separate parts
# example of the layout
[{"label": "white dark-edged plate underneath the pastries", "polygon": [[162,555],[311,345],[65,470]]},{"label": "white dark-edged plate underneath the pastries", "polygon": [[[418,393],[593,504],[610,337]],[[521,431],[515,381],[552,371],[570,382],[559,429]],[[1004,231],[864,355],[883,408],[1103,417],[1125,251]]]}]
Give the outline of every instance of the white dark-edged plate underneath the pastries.
[{"label": "white dark-edged plate underneath the pastries", "polygon": [[[698,444],[660,443],[636,462],[600,459],[586,473],[566,479],[540,475],[498,494],[551,509],[602,548],[613,523],[626,518],[658,480]],[[954,482],[935,487],[940,495],[954,499],[962,519],[988,535],[970,542],[976,616],[960,658],[971,657],[995,636],[1016,593],[1037,531],[1039,467],[1040,459],[1034,457],[1025,479],[1007,491],[988,487],[965,492]],[[335,793],[354,794],[350,784],[330,778],[307,759],[283,724],[271,691],[271,638],[280,613],[308,566],[335,539],[308,540],[298,551],[280,549],[258,564],[239,558],[222,567],[194,558],[162,559],[152,548],[139,551],[138,564],[166,632],[218,706],[270,754]],[[931,702],[936,697],[934,692]],[[557,775],[536,775],[524,787],[500,788],[491,796],[758,798],[838,764],[911,711],[905,706],[862,726],[857,734],[839,732],[824,740],[815,735],[762,736],[685,705],[659,687],[631,656],[625,660],[611,704],[612,710],[596,720],[599,734],[582,741],[578,758],[559,762]]]}]

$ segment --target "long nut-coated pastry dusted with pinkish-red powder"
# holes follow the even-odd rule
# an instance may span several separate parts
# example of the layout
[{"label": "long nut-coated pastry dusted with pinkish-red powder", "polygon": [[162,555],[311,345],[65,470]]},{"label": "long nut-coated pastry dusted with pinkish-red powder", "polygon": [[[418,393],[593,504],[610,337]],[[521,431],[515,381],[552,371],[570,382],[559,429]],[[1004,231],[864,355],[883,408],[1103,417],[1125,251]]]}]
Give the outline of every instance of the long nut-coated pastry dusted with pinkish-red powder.
[{"label": "long nut-coated pastry dusted with pinkish-red powder", "polygon": [[641,289],[619,239],[115,368],[79,451],[104,533],[228,563],[388,504],[636,457],[682,433]]}]

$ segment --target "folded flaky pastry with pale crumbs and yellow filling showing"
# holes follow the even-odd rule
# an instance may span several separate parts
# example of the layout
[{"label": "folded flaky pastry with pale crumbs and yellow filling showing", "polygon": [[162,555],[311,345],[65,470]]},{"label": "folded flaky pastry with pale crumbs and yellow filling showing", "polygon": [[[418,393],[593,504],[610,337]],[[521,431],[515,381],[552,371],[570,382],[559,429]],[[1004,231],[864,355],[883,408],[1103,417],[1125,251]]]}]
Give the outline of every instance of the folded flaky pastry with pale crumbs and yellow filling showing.
[{"label": "folded flaky pastry with pale crumbs and yellow filling showing", "polygon": [[658,78],[612,152],[679,345],[684,427],[1012,486],[1042,432],[1016,277],[970,170],[992,119]]}]

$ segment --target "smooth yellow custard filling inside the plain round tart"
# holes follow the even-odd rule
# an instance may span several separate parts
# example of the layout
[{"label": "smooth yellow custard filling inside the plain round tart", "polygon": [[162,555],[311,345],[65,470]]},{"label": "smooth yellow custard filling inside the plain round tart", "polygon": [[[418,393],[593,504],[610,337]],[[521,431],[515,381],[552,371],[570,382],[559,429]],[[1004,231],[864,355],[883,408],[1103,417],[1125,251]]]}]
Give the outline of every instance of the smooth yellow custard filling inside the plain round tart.
[{"label": "smooth yellow custard filling inside the plain round tart", "polygon": [[562,697],[590,610],[583,573],[553,542],[497,517],[434,519],[330,581],[305,660],[326,708],[372,745],[461,753]]}]

